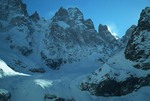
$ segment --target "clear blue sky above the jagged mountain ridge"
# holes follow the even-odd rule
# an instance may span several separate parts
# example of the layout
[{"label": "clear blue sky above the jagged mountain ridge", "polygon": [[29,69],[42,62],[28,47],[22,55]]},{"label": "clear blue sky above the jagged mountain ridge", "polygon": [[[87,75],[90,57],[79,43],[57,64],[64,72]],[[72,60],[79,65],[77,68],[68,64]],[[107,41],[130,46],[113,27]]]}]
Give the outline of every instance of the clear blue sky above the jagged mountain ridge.
[{"label": "clear blue sky above the jagged mountain ridge", "polygon": [[121,37],[133,24],[137,25],[142,9],[150,6],[150,0],[22,0],[28,13],[38,11],[40,17],[50,19],[62,6],[78,7],[84,18],[91,18],[96,30],[106,24],[112,33]]}]

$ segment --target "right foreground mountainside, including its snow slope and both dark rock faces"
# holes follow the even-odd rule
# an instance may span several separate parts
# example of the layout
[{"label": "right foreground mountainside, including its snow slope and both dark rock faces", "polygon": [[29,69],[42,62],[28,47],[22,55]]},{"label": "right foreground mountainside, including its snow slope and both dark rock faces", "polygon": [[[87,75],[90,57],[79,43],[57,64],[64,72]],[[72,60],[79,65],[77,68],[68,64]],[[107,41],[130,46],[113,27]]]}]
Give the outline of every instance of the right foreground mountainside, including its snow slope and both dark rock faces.
[{"label": "right foreground mountainside, including its snow slope and both dark rock faces", "polygon": [[108,97],[127,95],[143,86],[150,86],[149,22],[150,7],[146,7],[141,13],[137,27],[132,26],[127,31],[131,37],[128,39],[127,33],[122,39],[129,40],[125,49],[87,76],[80,85],[81,90]]}]

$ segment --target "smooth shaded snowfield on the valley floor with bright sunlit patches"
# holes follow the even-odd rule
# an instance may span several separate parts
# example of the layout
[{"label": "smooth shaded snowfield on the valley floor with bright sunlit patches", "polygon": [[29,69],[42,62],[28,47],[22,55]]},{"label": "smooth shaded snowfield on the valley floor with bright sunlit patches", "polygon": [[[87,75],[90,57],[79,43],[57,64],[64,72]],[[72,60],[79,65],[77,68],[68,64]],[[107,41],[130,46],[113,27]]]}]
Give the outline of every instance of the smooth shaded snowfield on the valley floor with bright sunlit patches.
[{"label": "smooth shaded snowfield on the valley floor with bright sunlit patches", "polygon": [[[11,101],[44,101],[45,95],[55,95],[75,101],[148,101],[150,87],[142,87],[121,97],[96,97],[87,91],[79,89],[80,82],[95,70],[98,65],[87,64],[86,69],[83,63],[68,64],[59,71],[49,71],[43,74],[17,73],[1,61],[4,78],[0,78],[0,88],[7,89],[11,93]],[[3,65],[3,68],[2,68]],[[77,67],[78,66],[78,67]],[[6,68],[6,69],[5,69]],[[7,71],[8,70],[8,71]],[[6,76],[7,75],[7,76]],[[14,76],[18,75],[18,76]],[[53,101],[46,99],[46,101]]]}]

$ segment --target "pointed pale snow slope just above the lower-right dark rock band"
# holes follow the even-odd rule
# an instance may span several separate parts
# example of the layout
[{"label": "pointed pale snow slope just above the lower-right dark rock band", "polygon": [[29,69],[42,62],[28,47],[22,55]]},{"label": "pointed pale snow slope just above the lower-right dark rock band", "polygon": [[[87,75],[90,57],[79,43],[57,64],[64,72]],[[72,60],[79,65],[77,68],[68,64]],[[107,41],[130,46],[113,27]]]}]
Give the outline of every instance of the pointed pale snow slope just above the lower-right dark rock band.
[{"label": "pointed pale snow slope just above the lower-right dark rock band", "polygon": [[90,82],[99,83],[100,81],[106,80],[108,79],[107,74],[110,78],[114,78],[117,81],[126,80],[131,75],[134,77],[144,77],[150,74],[150,70],[137,69],[133,67],[134,64],[134,62],[125,58],[124,50],[122,50],[93,72],[93,75],[90,76]]}]

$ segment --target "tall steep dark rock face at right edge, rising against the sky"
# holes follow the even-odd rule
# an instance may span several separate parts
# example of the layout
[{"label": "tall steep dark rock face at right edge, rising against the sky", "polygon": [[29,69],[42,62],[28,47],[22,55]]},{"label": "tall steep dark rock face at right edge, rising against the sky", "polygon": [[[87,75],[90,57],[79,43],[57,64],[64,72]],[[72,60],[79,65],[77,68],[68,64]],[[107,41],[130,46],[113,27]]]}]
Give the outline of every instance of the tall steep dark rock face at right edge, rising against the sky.
[{"label": "tall steep dark rock face at right edge, rising against the sky", "polygon": [[125,57],[135,61],[136,68],[150,69],[150,7],[146,7],[140,16],[138,26],[132,33],[125,49]]}]

